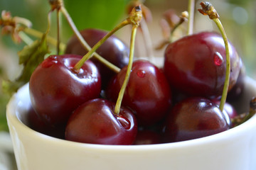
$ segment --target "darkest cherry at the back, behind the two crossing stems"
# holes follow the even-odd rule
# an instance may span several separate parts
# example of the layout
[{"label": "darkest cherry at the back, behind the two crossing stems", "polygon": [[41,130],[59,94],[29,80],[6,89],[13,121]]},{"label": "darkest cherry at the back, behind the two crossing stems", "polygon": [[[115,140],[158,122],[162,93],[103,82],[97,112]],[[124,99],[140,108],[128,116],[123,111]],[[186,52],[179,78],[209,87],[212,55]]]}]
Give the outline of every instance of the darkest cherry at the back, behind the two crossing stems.
[{"label": "darkest cherry at the back, behind the two crossing stems", "polygon": [[[90,47],[93,47],[107,34],[106,31],[97,29],[85,29],[80,31],[80,33]],[[115,35],[110,36],[110,38],[108,38],[96,50],[96,52],[119,68],[124,67],[129,62],[129,47],[122,40],[119,40],[119,38],[117,38]],[[73,35],[73,37],[68,40],[65,53],[85,55],[87,50],[85,50],[85,47],[82,47],[78,38]],[[102,75],[102,87],[105,88],[108,81],[110,81],[111,77],[114,76],[114,72],[95,58],[92,57],[91,60],[99,69],[100,74]]]}]

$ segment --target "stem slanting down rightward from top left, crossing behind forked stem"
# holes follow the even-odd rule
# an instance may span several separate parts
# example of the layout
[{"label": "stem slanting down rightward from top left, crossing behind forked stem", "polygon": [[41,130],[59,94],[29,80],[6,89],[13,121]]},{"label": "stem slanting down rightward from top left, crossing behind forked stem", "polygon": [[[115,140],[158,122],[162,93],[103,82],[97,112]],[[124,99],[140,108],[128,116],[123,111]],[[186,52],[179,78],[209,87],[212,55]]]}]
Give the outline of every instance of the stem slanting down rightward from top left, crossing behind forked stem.
[{"label": "stem slanting down rightward from top left, crossing behind forked stem", "polygon": [[[75,26],[75,23],[73,22],[72,18],[70,17],[68,11],[65,9],[64,6],[61,6],[60,11],[63,13],[63,15],[65,16],[65,18],[67,19],[70,27],[72,28],[73,32],[75,33],[75,35],[77,36],[78,40],[81,42],[81,44],[83,45],[83,47],[85,47],[85,49],[87,51],[91,50],[90,45],[87,44],[87,42],[84,40],[84,38],[82,38],[82,35],[80,34],[80,32],[78,31],[78,28]],[[105,58],[101,57],[100,55],[97,54],[97,52],[94,52],[94,57],[99,60],[100,62],[102,62],[102,64],[105,64],[107,67],[109,67],[110,69],[112,69],[112,71],[114,72],[119,72],[120,69],[118,67],[116,67],[114,64],[112,64],[111,62],[108,62],[107,60],[105,60]]]}]

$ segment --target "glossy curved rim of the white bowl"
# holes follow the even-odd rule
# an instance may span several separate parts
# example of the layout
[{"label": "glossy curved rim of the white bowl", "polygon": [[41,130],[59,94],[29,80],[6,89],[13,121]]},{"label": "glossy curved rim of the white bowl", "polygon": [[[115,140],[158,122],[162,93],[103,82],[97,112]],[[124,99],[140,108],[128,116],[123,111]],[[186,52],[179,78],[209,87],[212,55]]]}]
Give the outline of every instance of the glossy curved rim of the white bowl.
[{"label": "glossy curved rim of the white bowl", "polygon": [[[251,79],[250,77],[246,77],[249,84],[255,82],[255,80]],[[161,144],[154,144],[154,145],[99,145],[99,144],[87,144],[82,142],[73,142],[68,140],[62,140],[55,137],[50,137],[48,135],[44,135],[41,132],[37,132],[29,128],[25,125],[20,118],[18,118],[18,106],[22,103],[18,101],[17,94],[20,91],[25,91],[28,88],[28,84],[21,87],[19,91],[11,97],[9,103],[6,106],[6,118],[7,122],[10,126],[14,126],[17,130],[23,131],[26,136],[30,136],[31,138],[37,140],[44,140],[44,142],[51,142],[54,145],[58,145],[61,147],[73,147],[77,149],[87,149],[87,150],[100,150],[105,152],[154,152],[159,150],[166,150],[166,149],[179,149],[185,147],[196,147],[198,145],[207,145],[209,143],[214,142],[221,142],[223,140],[232,139],[233,136],[237,135],[238,133],[243,133],[247,129],[251,129],[256,126],[256,115],[252,116],[249,120],[242,125],[238,125],[235,128],[231,128],[230,130],[226,130],[224,132],[220,132],[215,135],[210,135],[207,137],[201,137],[194,140],[186,140],[182,142],[171,142],[171,143],[161,143]]]}]

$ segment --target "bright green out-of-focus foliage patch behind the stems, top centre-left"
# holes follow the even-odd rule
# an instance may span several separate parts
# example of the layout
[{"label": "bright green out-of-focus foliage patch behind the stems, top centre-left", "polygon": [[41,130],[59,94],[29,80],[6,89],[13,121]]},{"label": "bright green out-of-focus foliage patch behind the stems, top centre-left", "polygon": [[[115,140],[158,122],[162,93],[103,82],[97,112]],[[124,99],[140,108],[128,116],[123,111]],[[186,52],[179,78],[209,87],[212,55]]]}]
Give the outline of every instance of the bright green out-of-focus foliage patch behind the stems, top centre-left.
[{"label": "bright green out-of-focus foliage patch behind the stems, top centre-left", "polygon": [[[126,6],[129,0],[65,0],[64,2],[78,30],[85,28],[112,30],[127,16]],[[64,31],[68,33],[69,38],[73,32],[65,19],[63,23],[65,24]]]}]

